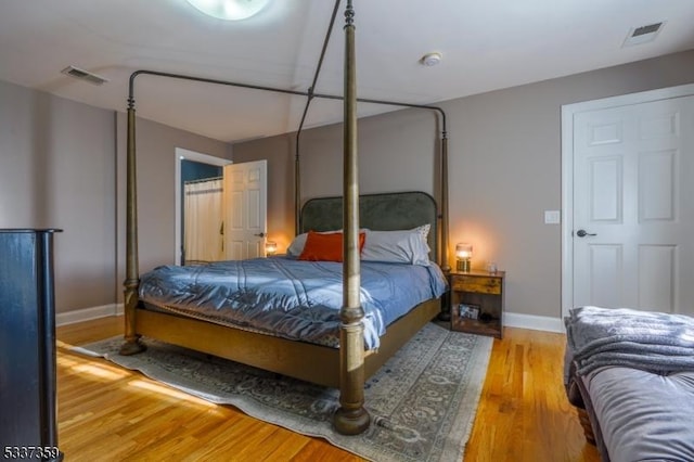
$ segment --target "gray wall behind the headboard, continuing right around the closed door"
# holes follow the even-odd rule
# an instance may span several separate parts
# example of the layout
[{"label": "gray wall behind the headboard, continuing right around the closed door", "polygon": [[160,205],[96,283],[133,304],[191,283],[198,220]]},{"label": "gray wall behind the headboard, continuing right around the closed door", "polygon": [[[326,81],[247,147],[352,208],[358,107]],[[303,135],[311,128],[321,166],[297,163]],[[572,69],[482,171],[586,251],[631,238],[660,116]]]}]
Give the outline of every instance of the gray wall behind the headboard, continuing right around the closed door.
[{"label": "gray wall behind the headboard, continuing right around the closed door", "polygon": [[[561,227],[543,210],[561,208],[563,104],[694,82],[694,51],[545,80],[441,104],[448,115],[450,243],[474,245],[473,267],[507,271],[506,308],[561,318]],[[359,123],[362,193],[421,190],[437,195],[437,121],[400,111]],[[234,161],[268,158],[272,217],[293,209],[294,136],[234,145]],[[342,191],[342,127],[301,136],[303,201]],[[290,217],[269,223],[282,245]],[[277,236],[277,238],[275,238]],[[451,255],[452,260],[452,255]]]}]

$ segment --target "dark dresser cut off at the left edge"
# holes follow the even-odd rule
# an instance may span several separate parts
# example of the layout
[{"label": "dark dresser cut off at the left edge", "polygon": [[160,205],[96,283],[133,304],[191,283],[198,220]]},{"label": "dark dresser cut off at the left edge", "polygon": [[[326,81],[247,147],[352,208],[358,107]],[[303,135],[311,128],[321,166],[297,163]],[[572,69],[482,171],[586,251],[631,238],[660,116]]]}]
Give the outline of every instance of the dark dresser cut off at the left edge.
[{"label": "dark dresser cut off at the left edge", "polygon": [[55,229],[0,229],[0,459],[60,461]]}]

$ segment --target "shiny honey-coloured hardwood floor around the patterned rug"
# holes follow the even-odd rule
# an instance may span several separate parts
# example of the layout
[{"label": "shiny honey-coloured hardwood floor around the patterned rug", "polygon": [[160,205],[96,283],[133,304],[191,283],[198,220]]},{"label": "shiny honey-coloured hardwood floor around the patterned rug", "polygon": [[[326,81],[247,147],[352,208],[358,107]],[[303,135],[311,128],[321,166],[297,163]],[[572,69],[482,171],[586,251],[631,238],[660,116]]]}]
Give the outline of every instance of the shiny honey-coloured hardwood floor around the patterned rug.
[{"label": "shiny honey-coloured hardwood floor around the patterned rug", "polygon": [[[59,442],[77,461],[359,461],[298,435],[67,349],[123,333],[123,318],[57,329]],[[494,339],[467,461],[599,461],[564,395],[564,335]]]}]

